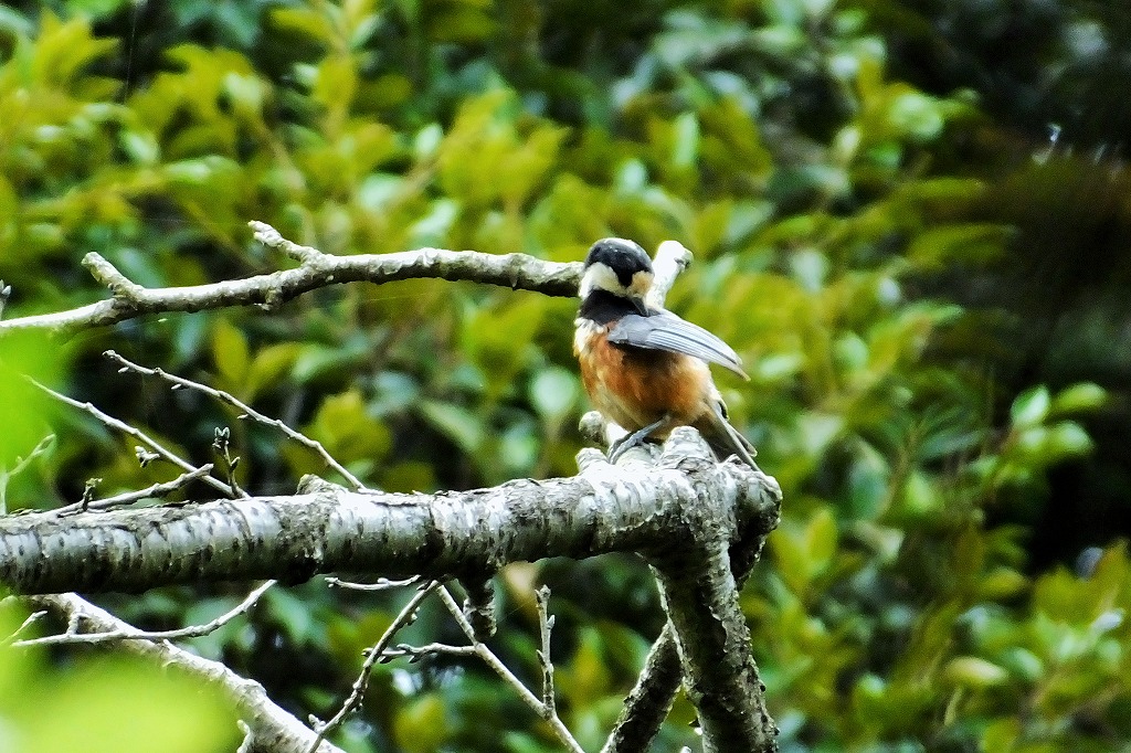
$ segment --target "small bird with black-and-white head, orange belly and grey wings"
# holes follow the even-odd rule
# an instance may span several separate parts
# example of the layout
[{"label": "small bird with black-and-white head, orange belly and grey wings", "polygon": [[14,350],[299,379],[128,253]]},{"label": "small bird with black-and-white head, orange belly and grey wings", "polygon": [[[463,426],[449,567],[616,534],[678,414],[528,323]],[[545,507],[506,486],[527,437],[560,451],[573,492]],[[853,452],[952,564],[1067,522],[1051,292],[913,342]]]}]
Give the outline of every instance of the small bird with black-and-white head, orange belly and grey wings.
[{"label": "small bird with black-and-white head, orange belly and grey wings", "polygon": [[694,426],[719,459],[736,455],[757,468],[754,448],[727,421],[707,366],[750,379],[739,356],[702,327],[649,308],[653,279],[651,259],[625,239],[597,241],[585,258],[573,353],[594,407],[629,432],[610,448],[610,461],[676,426]]}]

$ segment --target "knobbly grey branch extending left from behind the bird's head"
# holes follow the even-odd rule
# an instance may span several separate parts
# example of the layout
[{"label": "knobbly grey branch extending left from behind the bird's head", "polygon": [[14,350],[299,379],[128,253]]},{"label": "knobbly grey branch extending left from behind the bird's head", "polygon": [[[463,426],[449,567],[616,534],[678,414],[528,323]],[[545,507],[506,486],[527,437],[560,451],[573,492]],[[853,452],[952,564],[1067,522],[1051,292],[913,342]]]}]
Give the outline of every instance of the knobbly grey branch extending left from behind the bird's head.
[{"label": "knobbly grey branch extending left from behind the bird's head", "polygon": [[147,288],[128,279],[95,252],[83,265],[113,297],[49,314],[0,321],[0,337],[20,329],[74,332],[106,327],[145,314],[192,312],[230,306],[274,309],[303,293],[342,283],[389,283],[421,277],[470,280],[554,296],[577,295],[580,262],[544,261],[525,253],[491,254],[478,251],[418,249],[387,254],[337,257],[284,239],[266,223],[248,223],[264,244],[300,261],[294,269],[245,279],[188,287]]}]

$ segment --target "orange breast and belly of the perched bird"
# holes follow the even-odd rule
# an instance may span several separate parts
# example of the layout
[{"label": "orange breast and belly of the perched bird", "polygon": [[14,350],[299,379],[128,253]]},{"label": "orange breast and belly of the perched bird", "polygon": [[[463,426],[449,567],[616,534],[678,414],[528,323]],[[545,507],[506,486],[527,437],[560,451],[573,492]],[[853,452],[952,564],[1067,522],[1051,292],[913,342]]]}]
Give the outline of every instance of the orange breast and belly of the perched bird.
[{"label": "orange breast and belly of the perched bird", "polygon": [[630,432],[664,416],[673,426],[689,424],[708,407],[710,371],[698,358],[623,348],[610,345],[604,334],[594,334],[578,349],[578,361],[594,407]]}]

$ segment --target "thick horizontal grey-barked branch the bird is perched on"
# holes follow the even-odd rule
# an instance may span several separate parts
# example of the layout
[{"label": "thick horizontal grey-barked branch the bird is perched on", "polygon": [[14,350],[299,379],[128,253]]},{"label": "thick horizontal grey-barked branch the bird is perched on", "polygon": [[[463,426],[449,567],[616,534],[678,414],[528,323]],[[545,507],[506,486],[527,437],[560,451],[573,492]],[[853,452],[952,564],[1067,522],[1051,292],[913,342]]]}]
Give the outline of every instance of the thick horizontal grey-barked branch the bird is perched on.
[{"label": "thick horizontal grey-barked branch the bird is perched on", "polygon": [[294,582],[336,570],[444,578],[519,560],[663,552],[705,494],[743,520],[776,510],[776,486],[765,476],[714,462],[684,473],[677,444],[656,468],[613,467],[589,450],[571,478],[431,496],[314,483],[316,492],[293,496],[0,518],[0,582],[35,594]]}]

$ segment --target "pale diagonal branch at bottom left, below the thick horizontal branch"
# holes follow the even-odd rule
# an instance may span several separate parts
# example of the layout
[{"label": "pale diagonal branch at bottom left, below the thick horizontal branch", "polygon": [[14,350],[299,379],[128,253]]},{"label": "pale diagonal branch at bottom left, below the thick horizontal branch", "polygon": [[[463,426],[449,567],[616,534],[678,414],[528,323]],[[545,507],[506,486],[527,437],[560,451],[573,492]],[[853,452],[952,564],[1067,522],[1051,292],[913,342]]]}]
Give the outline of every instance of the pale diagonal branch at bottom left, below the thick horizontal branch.
[{"label": "pale diagonal branch at bottom left, below the thick horizontal branch", "polygon": [[[75,594],[35,596],[28,599],[33,608],[48,609],[69,624],[97,633],[140,632],[105,609],[79,598]],[[247,739],[241,750],[249,753],[308,753],[314,733],[301,721],[276,706],[264,686],[235,674],[219,661],[210,661],[167,642],[124,639],[118,643],[123,650],[174,667],[218,687],[235,707],[247,726]],[[322,742],[319,753],[343,753],[339,747]]]}]

